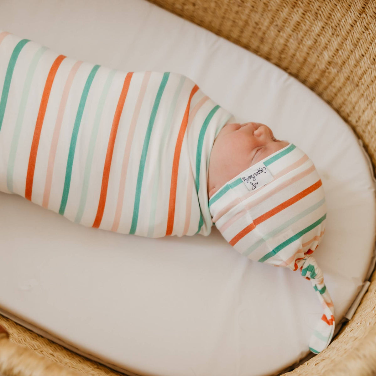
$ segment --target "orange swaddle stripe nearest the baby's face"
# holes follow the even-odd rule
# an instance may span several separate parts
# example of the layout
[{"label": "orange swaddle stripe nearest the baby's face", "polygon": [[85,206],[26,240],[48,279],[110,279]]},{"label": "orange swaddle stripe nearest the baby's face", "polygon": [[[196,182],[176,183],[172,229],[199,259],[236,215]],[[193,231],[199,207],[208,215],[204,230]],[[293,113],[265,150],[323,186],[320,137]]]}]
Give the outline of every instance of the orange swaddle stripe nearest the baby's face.
[{"label": "orange swaddle stripe nearest the baby's face", "polygon": [[177,135],[174,159],[172,163],[172,174],[171,174],[171,185],[170,185],[170,202],[168,204],[168,217],[167,217],[167,229],[166,236],[171,235],[174,227],[174,217],[175,217],[175,202],[176,202],[176,186],[177,186],[177,173],[179,172],[179,160],[180,152],[182,150],[183,139],[185,135],[185,130],[188,124],[188,115],[191,106],[191,100],[194,93],[199,89],[199,86],[194,85],[191,91],[188,104],[185,108],[185,113],[183,116],[182,124],[180,125],[179,134]]}]

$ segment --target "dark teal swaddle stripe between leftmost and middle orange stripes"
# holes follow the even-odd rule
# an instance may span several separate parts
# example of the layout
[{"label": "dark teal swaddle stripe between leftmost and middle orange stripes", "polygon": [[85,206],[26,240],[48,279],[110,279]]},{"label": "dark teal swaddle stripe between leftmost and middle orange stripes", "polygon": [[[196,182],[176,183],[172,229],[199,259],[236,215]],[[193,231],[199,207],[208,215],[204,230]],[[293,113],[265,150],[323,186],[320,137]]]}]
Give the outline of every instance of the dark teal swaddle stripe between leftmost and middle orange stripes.
[{"label": "dark teal swaddle stripe between leftmost and middle orange stripes", "polygon": [[70,146],[69,146],[69,153],[68,153],[68,160],[67,160],[67,170],[65,171],[64,189],[63,189],[63,194],[62,194],[60,209],[59,209],[59,214],[61,214],[61,215],[64,215],[65,206],[67,206],[68,194],[69,194],[69,188],[70,188],[70,181],[71,181],[71,177],[72,177],[72,166],[73,166],[73,159],[74,159],[74,151],[76,149],[77,135],[78,135],[78,131],[79,131],[80,124],[81,124],[83,109],[85,108],[85,103],[86,103],[86,99],[87,99],[88,94],[89,94],[89,89],[90,89],[91,83],[92,83],[94,76],[97,73],[97,70],[99,69],[99,67],[100,67],[100,65],[98,65],[98,64],[94,65],[94,67],[92,67],[92,70],[89,73],[89,76],[88,76],[88,78],[85,82],[85,86],[84,86],[83,91],[82,91],[80,103],[79,103],[79,106],[78,106],[78,109],[77,109],[76,120],[74,121],[71,143],[70,143]]}]

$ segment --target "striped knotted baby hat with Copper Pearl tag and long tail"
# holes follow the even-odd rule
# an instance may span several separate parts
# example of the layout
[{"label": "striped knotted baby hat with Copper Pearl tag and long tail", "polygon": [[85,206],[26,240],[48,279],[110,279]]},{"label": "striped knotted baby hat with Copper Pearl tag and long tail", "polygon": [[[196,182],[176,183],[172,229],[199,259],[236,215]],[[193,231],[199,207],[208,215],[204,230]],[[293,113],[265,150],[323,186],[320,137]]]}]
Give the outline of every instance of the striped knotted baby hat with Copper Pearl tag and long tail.
[{"label": "striped knotted baby hat with Copper Pearl tag and long tail", "polygon": [[334,306],[311,256],[325,230],[324,189],[308,156],[289,144],[224,184],[209,200],[212,221],[249,259],[300,270],[324,309],[309,341],[317,354],[330,343]]}]

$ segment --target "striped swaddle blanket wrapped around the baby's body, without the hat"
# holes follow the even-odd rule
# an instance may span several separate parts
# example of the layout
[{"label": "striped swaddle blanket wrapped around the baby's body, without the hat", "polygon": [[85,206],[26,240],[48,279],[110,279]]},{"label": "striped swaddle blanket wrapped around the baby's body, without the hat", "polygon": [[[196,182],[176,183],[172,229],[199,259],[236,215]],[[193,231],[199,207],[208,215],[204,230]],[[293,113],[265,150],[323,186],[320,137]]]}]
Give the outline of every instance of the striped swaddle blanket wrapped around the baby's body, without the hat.
[{"label": "striped swaddle blanket wrapped around the baby's body, without the hat", "polygon": [[188,77],[77,61],[0,30],[0,94],[0,191],[115,232],[211,232],[209,155],[232,115]]}]

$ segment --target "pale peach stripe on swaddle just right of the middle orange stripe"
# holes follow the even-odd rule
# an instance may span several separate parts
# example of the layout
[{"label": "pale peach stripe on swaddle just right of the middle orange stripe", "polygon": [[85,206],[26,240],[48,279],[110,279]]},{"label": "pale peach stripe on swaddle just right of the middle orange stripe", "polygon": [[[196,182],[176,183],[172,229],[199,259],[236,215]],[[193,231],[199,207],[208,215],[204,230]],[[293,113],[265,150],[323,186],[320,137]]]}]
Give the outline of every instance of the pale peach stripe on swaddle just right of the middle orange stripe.
[{"label": "pale peach stripe on swaddle just right of the middle orange stripe", "polygon": [[124,200],[124,191],[125,191],[125,180],[127,177],[127,170],[128,170],[128,163],[129,163],[129,155],[130,155],[130,148],[132,146],[133,135],[135,133],[135,127],[138,120],[138,115],[141,109],[142,102],[144,100],[147,84],[150,79],[151,71],[146,71],[144,75],[144,79],[141,84],[141,88],[138,94],[137,103],[135,109],[133,111],[132,120],[130,122],[129,131],[127,135],[127,142],[125,145],[124,150],[124,158],[123,158],[123,165],[121,166],[121,175],[120,175],[120,185],[119,185],[119,194],[117,199],[116,211],[115,211],[115,218],[114,223],[112,223],[111,231],[117,231],[120,223],[121,217],[121,210],[123,209],[123,200]]}]

